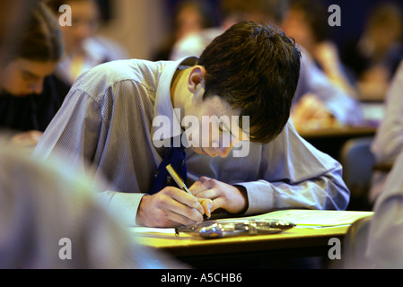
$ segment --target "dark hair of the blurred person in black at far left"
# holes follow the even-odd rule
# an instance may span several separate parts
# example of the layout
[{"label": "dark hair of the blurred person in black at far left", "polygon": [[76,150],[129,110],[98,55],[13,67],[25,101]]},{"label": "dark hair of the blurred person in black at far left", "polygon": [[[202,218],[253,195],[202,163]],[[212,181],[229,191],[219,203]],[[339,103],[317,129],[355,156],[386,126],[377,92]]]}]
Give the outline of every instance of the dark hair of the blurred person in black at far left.
[{"label": "dark hair of the blurred person in black at far left", "polygon": [[31,61],[58,61],[63,55],[63,36],[55,13],[42,2],[29,14],[25,29],[16,37],[7,61],[24,58]]}]

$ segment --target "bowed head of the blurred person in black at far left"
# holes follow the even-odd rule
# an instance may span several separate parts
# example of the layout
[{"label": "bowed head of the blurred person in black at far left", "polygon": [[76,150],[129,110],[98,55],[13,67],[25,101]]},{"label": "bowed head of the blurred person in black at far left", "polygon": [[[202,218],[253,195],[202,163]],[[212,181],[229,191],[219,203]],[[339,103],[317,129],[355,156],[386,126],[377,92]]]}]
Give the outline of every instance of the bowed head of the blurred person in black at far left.
[{"label": "bowed head of the blurred person in black at far left", "polygon": [[14,96],[40,93],[44,78],[53,73],[63,54],[63,40],[54,13],[39,3],[28,17],[2,63],[0,88]]}]

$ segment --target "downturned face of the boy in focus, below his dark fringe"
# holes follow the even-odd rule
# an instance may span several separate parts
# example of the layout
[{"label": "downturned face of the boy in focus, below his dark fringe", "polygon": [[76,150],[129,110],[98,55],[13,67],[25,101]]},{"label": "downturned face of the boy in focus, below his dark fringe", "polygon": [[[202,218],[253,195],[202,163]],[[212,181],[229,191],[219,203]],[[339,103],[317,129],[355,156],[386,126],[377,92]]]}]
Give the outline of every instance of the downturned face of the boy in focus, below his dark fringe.
[{"label": "downturned face of the boy in focus, below his dark fringe", "polygon": [[[199,90],[204,93],[203,88]],[[202,94],[195,97],[182,119],[191,149],[212,157],[226,157],[236,143],[249,140],[239,126],[240,114],[240,109],[232,109],[218,96],[206,100]]]}]

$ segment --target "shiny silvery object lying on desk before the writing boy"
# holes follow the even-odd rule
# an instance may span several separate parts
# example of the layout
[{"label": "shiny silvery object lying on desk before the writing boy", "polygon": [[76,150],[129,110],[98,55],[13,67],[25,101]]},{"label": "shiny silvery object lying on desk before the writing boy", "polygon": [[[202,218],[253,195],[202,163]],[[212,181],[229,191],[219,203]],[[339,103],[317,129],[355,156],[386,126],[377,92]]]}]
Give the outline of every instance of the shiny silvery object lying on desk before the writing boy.
[{"label": "shiny silvery object lying on desk before the writing boy", "polygon": [[263,235],[289,230],[295,226],[292,222],[274,219],[261,220],[225,220],[207,221],[175,228],[180,232],[206,239],[227,238],[243,235]]}]

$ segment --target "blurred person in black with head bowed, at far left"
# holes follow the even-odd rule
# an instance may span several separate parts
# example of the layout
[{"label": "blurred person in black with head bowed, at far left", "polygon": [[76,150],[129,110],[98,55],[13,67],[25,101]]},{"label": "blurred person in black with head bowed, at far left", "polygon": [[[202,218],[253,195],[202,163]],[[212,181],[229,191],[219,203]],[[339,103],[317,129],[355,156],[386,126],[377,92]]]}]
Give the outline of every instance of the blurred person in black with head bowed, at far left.
[{"label": "blurred person in black with head bowed, at far left", "polygon": [[54,74],[63,54],[55,15],[45,4],[30,9],[26,26],[3,55],[0,127],[13,144],[31,149],[62,105],[70,85]]}]

